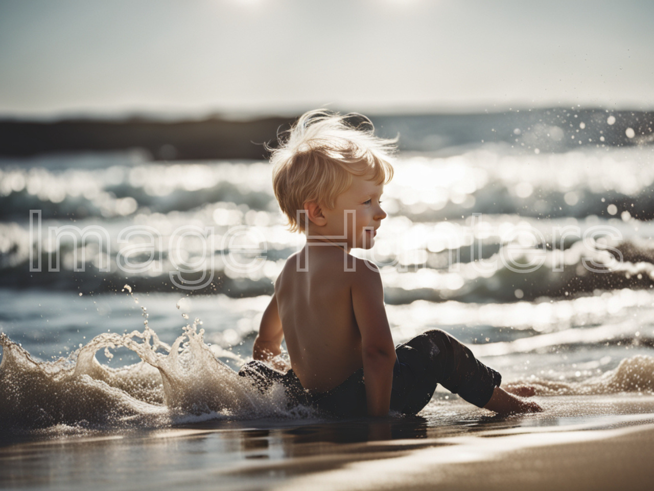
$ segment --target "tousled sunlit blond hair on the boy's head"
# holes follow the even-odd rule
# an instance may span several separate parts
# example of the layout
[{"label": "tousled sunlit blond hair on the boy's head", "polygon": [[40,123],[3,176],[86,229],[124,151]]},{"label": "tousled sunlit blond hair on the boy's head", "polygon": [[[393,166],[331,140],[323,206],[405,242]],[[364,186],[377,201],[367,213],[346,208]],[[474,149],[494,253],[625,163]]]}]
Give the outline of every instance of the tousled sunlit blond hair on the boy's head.
[{"label": "tousled sunlit blond hair on the boy's head", "polygon": [[[354,126],[348,120],[360,118]],[[279,136],[279,147],[271,149],[275,198],[292,232],[305,228],[307,201],[334,208],[336,196],[352,184],[353,175],[372,174],[377,185],[388,184],[393,168],[388,158],[396,151],[397,138],[374,135],[370,119],[356,113],[316,109]],[[299,218],[299,221],[298,221]]]}]

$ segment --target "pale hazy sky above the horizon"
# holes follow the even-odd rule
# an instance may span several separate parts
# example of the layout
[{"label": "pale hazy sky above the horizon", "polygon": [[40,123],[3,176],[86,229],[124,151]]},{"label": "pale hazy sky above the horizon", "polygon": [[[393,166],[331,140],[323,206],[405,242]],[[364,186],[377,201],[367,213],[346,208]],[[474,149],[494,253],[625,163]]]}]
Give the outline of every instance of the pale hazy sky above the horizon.
[{"label": "pale hazy sky above the horizon", "polygon": [[654,109],[654,1],[0,0],[0,117]]}]

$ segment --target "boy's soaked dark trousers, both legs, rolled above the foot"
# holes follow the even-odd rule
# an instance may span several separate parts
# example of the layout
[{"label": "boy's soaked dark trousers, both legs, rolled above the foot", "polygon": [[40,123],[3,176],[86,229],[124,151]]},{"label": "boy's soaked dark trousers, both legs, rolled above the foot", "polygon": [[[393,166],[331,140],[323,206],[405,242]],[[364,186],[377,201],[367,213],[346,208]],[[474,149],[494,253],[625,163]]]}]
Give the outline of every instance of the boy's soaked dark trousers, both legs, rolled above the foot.
[{"label": "boy's soaked dark trousers, both legs, rolled above the foot", "polygon": [[[484,407],[494,388],[502,382],[498,372],[481,363],[464,344],[439,329],[400,344],[395,352],[390,409],[402,414],[417,414],[432,399],[438,384],[475,406]],[[273,381],[281,382],[292,405],[309,405],[341,418],[368,414],[363,369],[323,393],[309,393],[292,370],[283,374],[259,361],[243,365],[239,375],[248,376],[260,390],[267,390]]]}]

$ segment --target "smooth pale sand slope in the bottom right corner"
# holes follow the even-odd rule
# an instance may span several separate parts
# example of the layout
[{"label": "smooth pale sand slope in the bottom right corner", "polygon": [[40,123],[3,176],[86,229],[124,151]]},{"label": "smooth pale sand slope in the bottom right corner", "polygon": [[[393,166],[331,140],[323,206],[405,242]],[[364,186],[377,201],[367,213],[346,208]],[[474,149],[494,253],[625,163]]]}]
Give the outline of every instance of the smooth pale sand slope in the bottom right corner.
[{"label": "smooth pale sand slope in the bottom right corner", "polygon": [[552,433],[488,431],[348,464],[284,490],[651,490],[654,424]]}]

